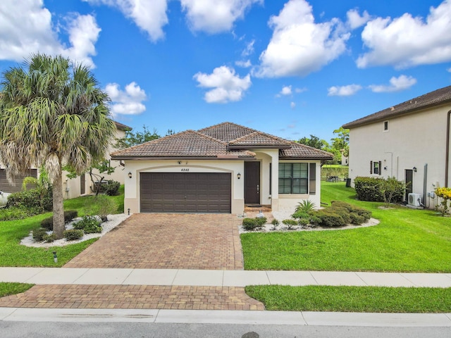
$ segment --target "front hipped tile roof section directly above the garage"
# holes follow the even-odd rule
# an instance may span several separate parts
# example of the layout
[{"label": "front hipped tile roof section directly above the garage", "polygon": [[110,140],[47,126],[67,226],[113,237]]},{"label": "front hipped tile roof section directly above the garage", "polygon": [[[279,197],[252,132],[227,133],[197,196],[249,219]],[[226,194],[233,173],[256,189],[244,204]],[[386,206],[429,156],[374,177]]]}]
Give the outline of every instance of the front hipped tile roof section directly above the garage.
[{"label": "front hipped tile roof section directly above the garage", "polygon": [[252,158],[251,151],[228,151],[226,142],[213,137],[187,130],[178,134],[154,139],[137,146],[132,146],[111,154],[116,158],[139,157],[239,157]]}]

